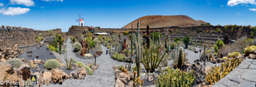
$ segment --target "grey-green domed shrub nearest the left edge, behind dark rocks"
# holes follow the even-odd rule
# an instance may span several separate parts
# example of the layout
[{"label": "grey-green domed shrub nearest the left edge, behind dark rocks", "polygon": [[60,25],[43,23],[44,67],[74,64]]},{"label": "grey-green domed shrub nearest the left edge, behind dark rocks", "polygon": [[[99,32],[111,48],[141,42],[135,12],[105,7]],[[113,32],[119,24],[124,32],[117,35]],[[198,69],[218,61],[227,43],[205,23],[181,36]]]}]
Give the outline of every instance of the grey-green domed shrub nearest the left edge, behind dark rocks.
[{"label": "grey-green domed shrub nearest the left edge, behind dark rocks", "polygon": [[22,62],[21,59],[12,58],[7,60],[7,64],[12,65],[12,67],[19,68],[21,65],[24,64],[24,62]]}]

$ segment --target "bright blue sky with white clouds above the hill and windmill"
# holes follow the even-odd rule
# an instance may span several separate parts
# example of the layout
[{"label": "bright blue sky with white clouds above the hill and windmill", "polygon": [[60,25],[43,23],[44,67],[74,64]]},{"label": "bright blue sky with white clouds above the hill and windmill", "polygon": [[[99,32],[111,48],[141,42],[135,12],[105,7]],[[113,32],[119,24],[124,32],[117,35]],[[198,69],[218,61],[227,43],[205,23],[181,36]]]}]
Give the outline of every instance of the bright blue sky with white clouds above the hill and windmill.
[{"label": "bright blue sky with white clouds above the hill and windmill", "polygon": [[188,15],[212,25],[252,25],[255,0],[0,0],[0,25],[35,30],[78,25],[121,28],[146,15]]}]

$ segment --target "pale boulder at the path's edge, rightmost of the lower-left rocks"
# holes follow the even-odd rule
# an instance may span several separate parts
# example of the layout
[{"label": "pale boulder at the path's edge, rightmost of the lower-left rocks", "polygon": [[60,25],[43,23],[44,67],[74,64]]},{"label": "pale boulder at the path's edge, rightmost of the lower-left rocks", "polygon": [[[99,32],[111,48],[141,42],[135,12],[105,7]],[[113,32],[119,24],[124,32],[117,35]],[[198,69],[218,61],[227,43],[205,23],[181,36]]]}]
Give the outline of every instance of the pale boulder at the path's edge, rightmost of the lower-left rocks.
[{"label": "pale boulder at the path's edge, rightmost of the lower-left rocks", "polygon": [[69,73],[70,78],[84,79],[86,78],[87,72],[84,67],[79,67],[77,70],[74,70]]}]

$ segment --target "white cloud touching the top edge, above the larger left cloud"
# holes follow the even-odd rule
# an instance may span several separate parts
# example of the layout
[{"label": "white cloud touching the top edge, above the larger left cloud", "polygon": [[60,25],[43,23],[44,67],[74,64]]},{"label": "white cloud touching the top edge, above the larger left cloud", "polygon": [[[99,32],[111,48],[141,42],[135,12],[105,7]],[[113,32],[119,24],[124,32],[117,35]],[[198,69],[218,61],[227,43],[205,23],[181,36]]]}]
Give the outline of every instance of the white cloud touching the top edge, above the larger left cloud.
[{"label": "white cloud touching the top edge, above the larger left cloud", "polygon": [[23,4],[26,7],[34,6],[34,1],[32,0],[10,0],[11,4]]}]

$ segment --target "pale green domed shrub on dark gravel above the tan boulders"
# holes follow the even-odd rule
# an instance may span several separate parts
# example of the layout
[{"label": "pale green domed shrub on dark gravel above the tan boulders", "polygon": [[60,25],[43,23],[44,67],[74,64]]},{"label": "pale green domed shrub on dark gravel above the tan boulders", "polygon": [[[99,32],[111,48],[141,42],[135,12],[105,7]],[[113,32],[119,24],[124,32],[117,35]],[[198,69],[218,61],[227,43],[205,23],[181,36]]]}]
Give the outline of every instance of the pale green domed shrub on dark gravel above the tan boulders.
[{"label": "pale green domed shrub on dark gravel above the tan boulders", "polygon": [[53,68],[57,68],[60,66],[61,66],[61,64],[56,59],[49,59],[47,62],[45,62],[45,65],[44,65],[44,67],[46,69],[53,69]]}]

